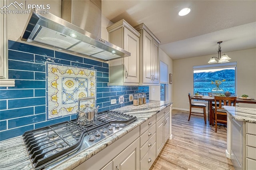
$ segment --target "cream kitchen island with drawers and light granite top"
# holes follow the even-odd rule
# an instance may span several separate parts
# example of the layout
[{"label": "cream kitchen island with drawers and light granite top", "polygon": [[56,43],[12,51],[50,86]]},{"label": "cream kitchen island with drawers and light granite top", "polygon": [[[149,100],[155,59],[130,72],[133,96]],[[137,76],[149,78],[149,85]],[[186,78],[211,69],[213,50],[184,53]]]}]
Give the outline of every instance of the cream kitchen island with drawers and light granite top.
[{"label": "cream kitchen island with drawers and light granite top", "polygon": [[256,109],[223,106],[227,116],[226,157],[235,169],[256,167]]}]

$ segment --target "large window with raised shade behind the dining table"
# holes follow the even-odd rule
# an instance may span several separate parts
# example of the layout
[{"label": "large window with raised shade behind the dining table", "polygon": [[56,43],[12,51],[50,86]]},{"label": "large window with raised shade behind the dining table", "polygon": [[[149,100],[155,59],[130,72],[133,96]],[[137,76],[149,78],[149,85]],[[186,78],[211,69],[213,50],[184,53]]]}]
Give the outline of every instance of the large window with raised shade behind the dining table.
[{"label": "large window with raised shade behind the dining table", "polygon": [[216,87],[211,81],[225,79],[220,88],[236,94],[236,62],[194,66],[193,76],[194,93],[208,95]]}]

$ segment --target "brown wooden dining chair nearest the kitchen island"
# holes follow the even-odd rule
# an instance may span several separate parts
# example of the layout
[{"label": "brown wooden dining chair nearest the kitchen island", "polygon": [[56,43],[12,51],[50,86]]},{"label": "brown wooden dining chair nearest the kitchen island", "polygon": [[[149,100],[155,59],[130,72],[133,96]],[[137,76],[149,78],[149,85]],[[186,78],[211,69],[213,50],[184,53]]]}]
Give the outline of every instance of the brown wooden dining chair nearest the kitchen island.
[{"label": "brown wooden dining chair nearest the kitchen island", "polygon": [[215,132],[217,132],[217,124],[218,123],[227,123],[227,113],[222,108],[222,106],[236,106],[236,97],[222,97],[222,96],[214,96],[215,103],[222,103],[221,105],[215,104],[212,107],[212,113],[214,113],[214,119],[212,120],[212,125],[215,123]]}]

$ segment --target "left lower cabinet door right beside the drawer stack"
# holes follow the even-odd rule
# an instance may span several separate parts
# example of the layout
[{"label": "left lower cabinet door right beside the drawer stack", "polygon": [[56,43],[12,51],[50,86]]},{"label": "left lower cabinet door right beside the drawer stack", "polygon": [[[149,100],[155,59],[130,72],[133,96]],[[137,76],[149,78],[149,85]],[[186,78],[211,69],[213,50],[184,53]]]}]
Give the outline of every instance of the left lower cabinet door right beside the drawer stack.
[{"label": "left lower cabinet door right beside the drawer stack", "polygon": [[156,155],[160,153],[164,147],[164,117],[156,122]]}]

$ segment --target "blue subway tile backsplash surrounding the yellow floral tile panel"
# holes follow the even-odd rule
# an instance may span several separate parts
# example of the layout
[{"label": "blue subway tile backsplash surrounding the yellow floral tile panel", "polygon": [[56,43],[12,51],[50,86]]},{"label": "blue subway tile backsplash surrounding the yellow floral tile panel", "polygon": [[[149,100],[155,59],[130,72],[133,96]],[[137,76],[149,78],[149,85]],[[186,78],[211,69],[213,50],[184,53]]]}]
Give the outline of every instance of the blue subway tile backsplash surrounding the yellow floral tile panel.
[{"label": "blue subway tile backsplash surrounding the yellow floral tile panel", "polygon": [[[129,94],[146,93],[148,86],[108,86],[108,63],[8,41],[8,77],[15,87],[0,87],[0,140],[22,135],[28,130],[70,121],[76,115],[47,120],[46,62],[96,69],[96,105],[99,112],[131,105]],[[124,103],[118,98],[124,96]],[[111,105],[110,100],[116,99]]]}]

